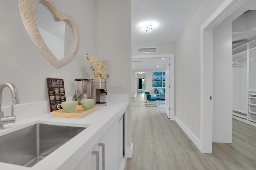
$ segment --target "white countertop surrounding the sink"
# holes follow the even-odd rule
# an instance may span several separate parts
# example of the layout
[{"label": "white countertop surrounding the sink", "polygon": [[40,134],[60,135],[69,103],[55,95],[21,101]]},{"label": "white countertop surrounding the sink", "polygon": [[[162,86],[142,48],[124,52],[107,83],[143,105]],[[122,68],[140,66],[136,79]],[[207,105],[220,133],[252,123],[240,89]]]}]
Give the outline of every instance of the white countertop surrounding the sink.
[{"label": "white countertop surrounding the sink", "polygon": [[98,110],[82,118],[54,117],[47,113],[30,119],[6,124],[0,136],[18,129],[22,129],[35,123],[48,123],[54,125],[68,125],[86,127],[84,131],[70,139],[67,143],[46,156],[43,160],[32,167],[24,167],[0,162],[1,170],[72,170],[88,153],[96,142],[106,133],[107,129],[126,110],[129,101],[106,100],[107,106],[99,107]]}]

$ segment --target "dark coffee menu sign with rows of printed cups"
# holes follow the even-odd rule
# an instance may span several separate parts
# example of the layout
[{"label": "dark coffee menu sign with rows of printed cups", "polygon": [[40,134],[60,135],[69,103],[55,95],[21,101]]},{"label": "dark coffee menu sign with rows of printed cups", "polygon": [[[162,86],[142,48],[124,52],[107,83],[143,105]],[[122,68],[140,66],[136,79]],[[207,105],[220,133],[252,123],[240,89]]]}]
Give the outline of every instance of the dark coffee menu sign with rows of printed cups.
[{"label": "dark coffee menu sign with rows of printed cups", "polygon": [[50,111],[57,110],[57,105],[66,101],[64,81],[60,78],[46,78]]}]

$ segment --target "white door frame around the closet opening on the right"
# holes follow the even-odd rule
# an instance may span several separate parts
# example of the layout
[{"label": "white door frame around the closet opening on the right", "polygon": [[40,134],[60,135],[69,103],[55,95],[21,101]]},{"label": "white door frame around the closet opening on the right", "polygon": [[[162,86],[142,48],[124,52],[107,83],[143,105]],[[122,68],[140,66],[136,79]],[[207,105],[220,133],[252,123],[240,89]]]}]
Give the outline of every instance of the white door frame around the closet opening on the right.
[{"label": "white door frame around the closet opening on the right", "polygon": [[[247,1],[247,0],[246,0]],[[201,42],[201,96],[200,96],[200,150],[212,153],[213,102],[213,29],[236,11],[245,0],[225,0],[200,27]],[[214,98],[214,96],[213,96]]]}]

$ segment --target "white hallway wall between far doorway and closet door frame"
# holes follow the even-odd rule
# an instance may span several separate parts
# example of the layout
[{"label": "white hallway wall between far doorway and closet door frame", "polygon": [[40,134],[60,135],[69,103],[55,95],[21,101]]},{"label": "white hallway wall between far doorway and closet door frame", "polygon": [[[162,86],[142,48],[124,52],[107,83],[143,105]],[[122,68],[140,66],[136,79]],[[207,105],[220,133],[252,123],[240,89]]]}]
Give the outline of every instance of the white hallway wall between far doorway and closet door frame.
[{"label": "white hallway wall between far doorway and closet door frame", "polygon": [[198,139],[200,139],[200,27],[222,2],[224,0],[204,0],[176,41],[175,113]]}]

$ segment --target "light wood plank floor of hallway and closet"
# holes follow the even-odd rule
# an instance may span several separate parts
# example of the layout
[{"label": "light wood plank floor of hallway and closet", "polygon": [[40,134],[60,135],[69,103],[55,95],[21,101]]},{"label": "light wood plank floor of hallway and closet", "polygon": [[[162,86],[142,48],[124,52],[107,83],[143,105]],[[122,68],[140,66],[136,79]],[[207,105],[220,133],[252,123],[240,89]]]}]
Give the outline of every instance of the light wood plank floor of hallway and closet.
[{"label": "light wood plank floor of hallway and closet", "polygon": [[143,94],[132,99],[133,156],[125,170],[256,170],[256,127],[233,119],[233,142],[213,143],[203,154],[164,107],[147,107]]}]

